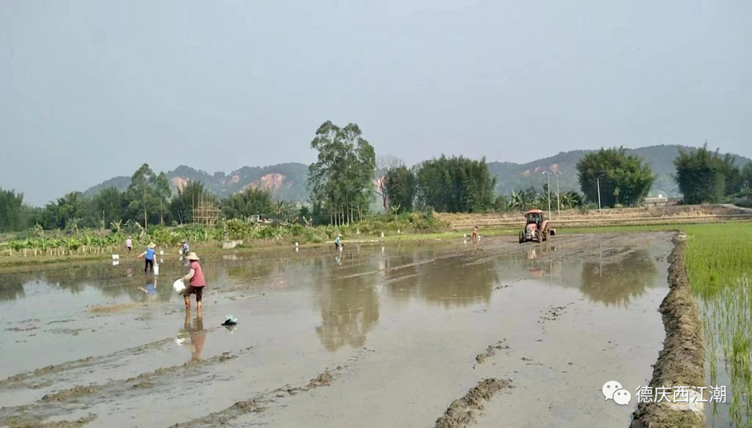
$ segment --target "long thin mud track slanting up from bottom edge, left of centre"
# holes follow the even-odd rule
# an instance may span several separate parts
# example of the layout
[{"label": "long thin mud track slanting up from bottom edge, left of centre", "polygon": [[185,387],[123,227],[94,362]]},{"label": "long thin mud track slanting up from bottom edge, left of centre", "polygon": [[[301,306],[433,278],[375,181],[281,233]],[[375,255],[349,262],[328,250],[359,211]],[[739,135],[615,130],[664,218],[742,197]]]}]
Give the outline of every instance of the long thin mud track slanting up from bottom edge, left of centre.
[{"label": "long thin mud track slanting up from bottom edge, left of centre", "polygon": [[328,387],[344,375],[350,365],[357,363],[368,352],[374,352],[372,349],[363,348],[358,354],[350,357],[344,365],[336,366],[335,369],[325,369],[315,378],[312,378],[305,385],[296,387],[285,385],[275,390],[265,391],[256,394],[249,399],[242,399],[235,404],[220,411],[207,414],[186,422],[175,423],[170,428],[202,428],[204,426],[228,426],[232,420],[237,419],[245,414],[262,414],[265,413],[271,405],[278,403],[280,400],[289,399],[298,393],[305,393],[320,387]]}]

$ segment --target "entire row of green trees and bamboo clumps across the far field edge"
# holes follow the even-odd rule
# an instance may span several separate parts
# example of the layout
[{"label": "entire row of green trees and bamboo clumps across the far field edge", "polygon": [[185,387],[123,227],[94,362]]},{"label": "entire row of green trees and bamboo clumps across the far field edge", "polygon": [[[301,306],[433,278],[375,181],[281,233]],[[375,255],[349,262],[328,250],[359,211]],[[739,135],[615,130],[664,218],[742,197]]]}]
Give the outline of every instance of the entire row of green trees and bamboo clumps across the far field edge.
[{"label": "entire row of green trees and bamboo clumps across the far field edge", "polygon": [[[311,191],[302,206],[275,202],[270,192],[250,187],[229,198],[219,199],[201,181],[189,181],[173,191],[164,172],[156,174],[148,164],[136,170],[129,187],[104,189],[85,198],[71,192],[43,208],[23,202],[23,193],[0,189],[0,231],[19,231],[32,226],[41,229],[130,229],[138,225],[193,223],[198,205],[217,210],[226,220],[249,220],[262,215],[302,224],[341,226],[356,223],[371,214],[376,196],[384,211],[465,212],[522,211],[560,204],[561,208],[632,206],[647,197],[656,177],[639,156],[628,156],[623,147],[603,148],[588,153],[576,165],[581,193],[569,190],[556,194],[544,185],[496,194],[496,178],[486,159],[444,156],[412,167],[391,156],[376,158],[374,147],[363,137],[356,123],[340,127],[330,121],[316,131],[311,148],[317,161],[308,168]],[[732,156],[720,156],[707,144],[697,150],[680,151],[674,161],[684,202],[721,202],[732,197],[750,197],[752,165],[735,165]]]}]

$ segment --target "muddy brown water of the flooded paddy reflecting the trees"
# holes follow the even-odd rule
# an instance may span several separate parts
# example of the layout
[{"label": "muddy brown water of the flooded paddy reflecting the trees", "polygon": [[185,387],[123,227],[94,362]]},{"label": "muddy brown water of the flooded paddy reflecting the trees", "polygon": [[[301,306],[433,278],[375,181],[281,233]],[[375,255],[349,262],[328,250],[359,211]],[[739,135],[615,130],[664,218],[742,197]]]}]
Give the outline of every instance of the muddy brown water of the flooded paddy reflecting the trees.
[{"label": "muddy brown water of the flooded paddy reflecting the trees", "polygon": [[0,426],[434,426],[490,378],[474,426],[628,426],[636,399],[601,387],[647,384],[670,250],[583,235],[205,258],[202,317],[171,290],[174,257],[156,281],[131,260],[0,275]]}]

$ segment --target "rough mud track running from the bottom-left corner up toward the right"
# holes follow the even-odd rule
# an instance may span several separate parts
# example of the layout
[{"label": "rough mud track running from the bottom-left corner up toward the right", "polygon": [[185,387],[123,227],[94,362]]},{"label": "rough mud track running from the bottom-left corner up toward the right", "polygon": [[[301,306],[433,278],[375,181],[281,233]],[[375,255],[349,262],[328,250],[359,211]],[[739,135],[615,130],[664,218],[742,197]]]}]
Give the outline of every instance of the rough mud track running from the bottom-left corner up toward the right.
[{"label": "rough mud track running from the bottom-left corner up toward the right", "polygon": [[36,402],[0,408],[0,426],[10,421],[26,423],[23,418],[27,415],[33,415],[35,419],[38,419],[65,414],[72,410],[92,408],[113,396],[126,399],[129,393],[141,395],[144,390],[159,386],[169,378],[179,377],[183,380],[190,376],[211,376],[203,370],[240,357],[251,349],[246,348],[238,354],[225,352],[205,360],[192,360],[178,366],[163,367],[153,372],[144,372],[132,378],[118,379],[105,384],[76,385],[65,390],[47,393]]}]

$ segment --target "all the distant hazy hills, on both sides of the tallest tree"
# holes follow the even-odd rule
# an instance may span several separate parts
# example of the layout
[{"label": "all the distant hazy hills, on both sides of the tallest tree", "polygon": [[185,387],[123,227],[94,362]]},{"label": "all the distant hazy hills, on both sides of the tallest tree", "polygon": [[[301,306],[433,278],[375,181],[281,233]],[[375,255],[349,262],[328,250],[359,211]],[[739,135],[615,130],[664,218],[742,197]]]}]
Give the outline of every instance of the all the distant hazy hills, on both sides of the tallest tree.
[{"label": "all the distant hazy hills, on both sides of the tallest tree", "polygon": [[[674,159],[678,156],[679,148],[695,150],[694,147],[678,145],[660,145],[627,149],[627,153],[643,157],[653,168],[653,173],[658,175],[651,195],[663,193],[666,196],[679,196],[679,189],[672,178],[675,173]],[[559,190],[580,190],[577,179],[577,162],[587,153],[593,150],[572,150],[562,152],[555,156],[538,159],[527,163],[514,162],[489,162],[488,168],[491,174],[496,175],[497,191],[502,195],[508,195],[514,190],[523,190],[527,187],[535,187],[540,190],[546,182],[544,171],[559,171]],[[737,165],[752,162],[744,156],[736,156]],[[208,172],[180,165],[167,173],[167,177],[174,189],[183,187],[189,180],[202,181],[208,189],[221,198],[231,196],[233,193],[244,190],[247,187],[258,187],[271,191],[276,200],[285,201],[308,201],[308,165],[302,163],[280,163],[279,165],[244,166],[237,171],[226,174],[224,172]],[[553,178],[553,177],[552,177]],[[126,190],[130,184],[129,177],[115,177],[102,184],[97,184],[84,192],[85,196],[93,196],[108,187],[116,187]],[[551,189],[556,189],[556,182],[551,182]],[[374,208],[377,204],[374,205]]]}]

